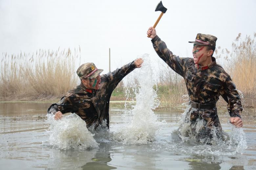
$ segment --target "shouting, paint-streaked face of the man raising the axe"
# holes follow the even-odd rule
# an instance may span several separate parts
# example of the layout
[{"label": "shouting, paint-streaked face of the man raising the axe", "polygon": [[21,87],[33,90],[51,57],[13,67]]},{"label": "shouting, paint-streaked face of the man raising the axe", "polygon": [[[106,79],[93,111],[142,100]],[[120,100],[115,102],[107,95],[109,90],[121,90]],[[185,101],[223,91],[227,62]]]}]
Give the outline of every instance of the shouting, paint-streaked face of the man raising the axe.
[{"label": "shouting, paint-streaked face of the man raising the axe", "polygon": [[206,60],[206,47],[204,45],[194,44],[192,53],[195,64],[203,64],[203,62]]}]

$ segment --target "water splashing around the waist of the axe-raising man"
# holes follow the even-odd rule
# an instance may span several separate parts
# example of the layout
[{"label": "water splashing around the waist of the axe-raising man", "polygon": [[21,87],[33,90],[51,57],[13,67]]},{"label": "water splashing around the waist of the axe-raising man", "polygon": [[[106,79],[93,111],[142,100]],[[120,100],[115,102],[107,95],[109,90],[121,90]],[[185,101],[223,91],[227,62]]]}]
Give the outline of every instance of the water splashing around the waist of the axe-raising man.
[{"label": "water splashing around the waist of the axe-raising man", "polygon": [[[213,138],[210,141],[212,145],[205,144],[207,141],[203,140],[198,142],[193,135],[188,136],[188,131],[191,131],[191,128],[193,127],[189,121],[191,114],[189,108],[190,106],[188,106],[182,114],[179,129],[174,130],[172,133],[173,138],[176,139],[171,142],[172,145],[169,146],[169,149],[172,149],[174,152],[182,152],[185,154],[231,156],[236,155],[237,153],[243,153],[247,148],[243,128],[237,128],[229,122],[227,124],[231,131],[229,134],[223,131],[221,133],[221,138],[217,137],[216,128],[213,128],[211,131]],[[196,121],[196,126],[193,127],[196,132],[204,126],[202,121],[203,120],[200,119]]]}]

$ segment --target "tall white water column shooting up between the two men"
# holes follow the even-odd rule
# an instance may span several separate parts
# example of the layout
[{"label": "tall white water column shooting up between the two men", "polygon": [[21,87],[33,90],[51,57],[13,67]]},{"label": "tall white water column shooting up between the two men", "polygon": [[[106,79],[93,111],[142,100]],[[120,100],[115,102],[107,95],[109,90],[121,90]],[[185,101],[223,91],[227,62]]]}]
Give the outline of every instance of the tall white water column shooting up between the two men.
[{"label": "tall white water column shooting up between the two men", "polygon": [[[153,109],[159,106],[157,93],[153,89],[156,85],[154,72],[148,54],[141,57],[144,63],[138,69],[139,91],[136,93],[136,105],[131,110],[132,122],[115,133],[117,141],[123,144],[147,144],[153,142],[162,123],[157,121]],[[135,72],[136,74],[136,72]]]}]

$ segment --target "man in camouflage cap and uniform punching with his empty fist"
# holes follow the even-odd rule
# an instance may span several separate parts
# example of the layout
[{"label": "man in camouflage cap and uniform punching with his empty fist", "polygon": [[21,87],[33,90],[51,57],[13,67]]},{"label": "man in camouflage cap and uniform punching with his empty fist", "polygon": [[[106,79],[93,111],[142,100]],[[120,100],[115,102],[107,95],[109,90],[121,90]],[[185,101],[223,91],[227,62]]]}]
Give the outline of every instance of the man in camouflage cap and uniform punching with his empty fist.
[{"label": "man in camouflage cap and uniform punching with his empty fist", "polygon": [[58,120],[62,114],[72,112],[80,116],[87,127],[96,129],[102,125],[109,128],[109,100],[113,90],[123,77],[141,67],[142,63],[141,58],[136,59],[102,76],[100,73],[103,70],[97,69],[94,63],[82,64],[76,71],[81,84],[66,93],[58,103],[52,104],[48,114],[54,114],[55,120]]}]

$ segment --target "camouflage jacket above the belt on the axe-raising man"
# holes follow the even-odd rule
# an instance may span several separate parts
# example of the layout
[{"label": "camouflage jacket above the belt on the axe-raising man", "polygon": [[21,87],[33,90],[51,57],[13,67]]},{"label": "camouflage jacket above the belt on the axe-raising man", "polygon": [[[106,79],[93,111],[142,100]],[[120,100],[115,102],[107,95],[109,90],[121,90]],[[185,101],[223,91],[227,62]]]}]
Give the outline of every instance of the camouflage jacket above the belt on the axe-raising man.
[{"label": "camouflage jacket above the belt on the axe-raising man", "polygon": [[158,36],[151,41],[159,57],[185,79],[190,101],[213,104],[221,95],[228,103],[230,116],[241,117],[243,108],[236,86],[224,69],[216,63],[214,57],[208,66],[196,67],[192,58],[179,58],[173,55]]}]

